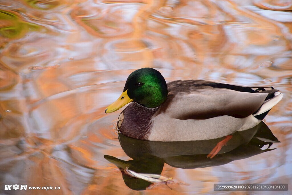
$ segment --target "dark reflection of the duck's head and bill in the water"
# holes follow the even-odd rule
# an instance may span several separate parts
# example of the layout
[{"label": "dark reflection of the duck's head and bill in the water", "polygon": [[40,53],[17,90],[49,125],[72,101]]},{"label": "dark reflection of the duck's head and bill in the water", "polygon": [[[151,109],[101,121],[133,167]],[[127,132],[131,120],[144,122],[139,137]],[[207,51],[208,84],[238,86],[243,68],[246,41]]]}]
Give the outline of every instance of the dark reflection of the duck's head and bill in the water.
[{"label": "dark reflection of the duck's head and bill in the water", "polygon": [[145,158],[142,159],[134,159],[130,161],[123,161],[107,155],[105,155],[104,158],[121,170],[126,186],[133,190],[145,190],[152,183],[126,174],[124,172],[126,167],[138,173],[161,174],[164,166],[164,161],[161,158],[149,155],[145,155]]}]

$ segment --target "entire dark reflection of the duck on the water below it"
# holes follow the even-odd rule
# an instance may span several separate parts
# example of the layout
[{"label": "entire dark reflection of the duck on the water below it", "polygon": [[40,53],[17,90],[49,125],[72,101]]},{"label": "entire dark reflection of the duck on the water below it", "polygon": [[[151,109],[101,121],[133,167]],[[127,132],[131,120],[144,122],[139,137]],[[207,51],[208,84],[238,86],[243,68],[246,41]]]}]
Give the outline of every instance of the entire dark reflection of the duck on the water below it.
[{"label": "entire dark reflection of the duck on the water below it", "polygon": [[[269,149],[270,146],[280,142],[264,122],[251,129],[234,133],[232,139],[214,158],[207,158],[207,155],[224,137],[201,141],[163,142],[133,139],[123,134],[118,136],[122,149],[133,160],[123,161],[107,155],[104,157],[121,170],[125,184],[134,190],[145,190],[152,183],[127,174],[126,169],[136,173],[161,174],[164,163],[183,169],[224,165],[274,150]],[[267,149],[262,149],[265,145]]]}]

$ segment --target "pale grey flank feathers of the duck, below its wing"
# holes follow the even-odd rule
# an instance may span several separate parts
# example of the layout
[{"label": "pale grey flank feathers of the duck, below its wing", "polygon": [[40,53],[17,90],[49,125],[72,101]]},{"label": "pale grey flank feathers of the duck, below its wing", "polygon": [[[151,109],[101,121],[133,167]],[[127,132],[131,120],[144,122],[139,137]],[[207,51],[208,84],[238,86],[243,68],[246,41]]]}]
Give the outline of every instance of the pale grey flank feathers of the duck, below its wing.
[{"label": "pale grey flank feathers of the duck, below its wing", "polygon": [[223,137],[236,131],[250,129],[260,123],[253,115],[235,118],[224,115],[206,120],[179,120],[161,113],[152,118],[148,140],[191,141]]}]

